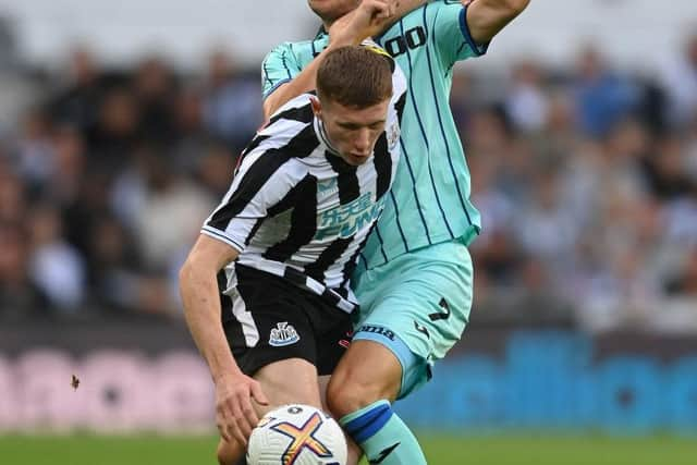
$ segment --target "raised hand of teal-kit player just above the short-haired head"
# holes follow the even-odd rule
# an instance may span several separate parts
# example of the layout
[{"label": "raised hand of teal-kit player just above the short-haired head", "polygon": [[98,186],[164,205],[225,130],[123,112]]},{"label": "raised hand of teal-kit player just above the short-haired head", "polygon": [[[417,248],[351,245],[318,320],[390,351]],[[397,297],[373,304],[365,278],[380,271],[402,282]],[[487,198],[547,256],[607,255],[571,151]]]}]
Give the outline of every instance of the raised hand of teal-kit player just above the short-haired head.
[{"label": "raised hand of teal-kit player just above the short-haired head", "polygon": [[394,20],[399,0],[363,0],[351,13],[337,20],[329,28],[332,44],[358,45],[381,33]]}]

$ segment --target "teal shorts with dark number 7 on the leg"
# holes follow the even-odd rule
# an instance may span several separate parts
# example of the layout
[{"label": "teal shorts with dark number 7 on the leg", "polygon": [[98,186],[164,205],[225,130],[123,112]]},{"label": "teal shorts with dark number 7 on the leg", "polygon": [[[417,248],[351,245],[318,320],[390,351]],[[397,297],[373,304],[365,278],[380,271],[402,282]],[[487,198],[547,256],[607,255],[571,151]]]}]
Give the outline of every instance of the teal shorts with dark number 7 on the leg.
[{"label": "teal shorts with dark number 7 on the leg", "polygon": [[472,309],[473,271],[467,247],[451,241],[354,277],[360,310],[353,339],[378,342],[399,358],[399,397],[425,384],[432,364],[462,336]]}]

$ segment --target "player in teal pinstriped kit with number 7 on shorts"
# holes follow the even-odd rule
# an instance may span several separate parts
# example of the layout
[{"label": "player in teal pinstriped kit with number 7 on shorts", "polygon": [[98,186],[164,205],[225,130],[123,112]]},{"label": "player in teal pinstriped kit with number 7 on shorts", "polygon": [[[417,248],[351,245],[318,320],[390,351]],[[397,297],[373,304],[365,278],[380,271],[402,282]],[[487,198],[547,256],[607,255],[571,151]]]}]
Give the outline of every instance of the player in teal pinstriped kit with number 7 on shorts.
[{"label": "player in teal pinstriped kit with number 7 on shorts", "polygon": [[[467,245],[480,230],[449,108],[452,68],[484,54],[528,2],[416,2],[425,4],[379,32],[384,17],[376,11],[388,0],[308,0],[323,22],[315,39],[282,44],[264,61],[267,113],[314,86],[316,66],[328,50],[367,36],[392,54],[407,76],[402,159],[386,211],[354,276],[360,315],[328,390],[331,412],[370,463],[426,463],[391,402],[425,383],[431,365],[465,330],[473,292]],[[366,15],[374,21],[357,27],[356,20]]]}]

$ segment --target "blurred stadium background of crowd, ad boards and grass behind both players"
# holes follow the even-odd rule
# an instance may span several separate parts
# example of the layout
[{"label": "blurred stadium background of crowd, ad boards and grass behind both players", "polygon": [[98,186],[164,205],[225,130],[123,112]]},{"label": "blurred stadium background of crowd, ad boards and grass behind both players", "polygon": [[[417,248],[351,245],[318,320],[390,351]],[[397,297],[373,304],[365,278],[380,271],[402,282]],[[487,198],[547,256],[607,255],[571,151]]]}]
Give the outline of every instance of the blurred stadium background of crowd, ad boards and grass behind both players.
[{"label": "blurred stadium background of crowd, ad boards and grass behind both players", "polygon": [[[176,270],[265,51],[316,27],[299,0],[0,1],[3,463],[212,463]],[[430,463],[694,463],[697,4],[535,0],[451,105],[485,232],[466,338],[398,404]]]}]

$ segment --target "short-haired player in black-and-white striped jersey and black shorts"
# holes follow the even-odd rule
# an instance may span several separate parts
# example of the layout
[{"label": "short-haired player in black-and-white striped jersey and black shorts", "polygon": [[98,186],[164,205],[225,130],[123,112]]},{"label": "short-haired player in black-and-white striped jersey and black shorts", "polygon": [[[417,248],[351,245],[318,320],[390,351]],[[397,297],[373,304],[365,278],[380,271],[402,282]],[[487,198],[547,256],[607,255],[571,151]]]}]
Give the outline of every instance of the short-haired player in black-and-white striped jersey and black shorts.
[{"label": "short-haired player in black-and-white striped jersey and black shorts", "polygon": [[405,93],[384,50],[329,53],[317,94],[281,107],[244,150],[182,267],[186,322],[216,383],[220,463],[240,458],[272,407],[322,408],[318,377],[347,346],[348,281],[394,179]]}]

